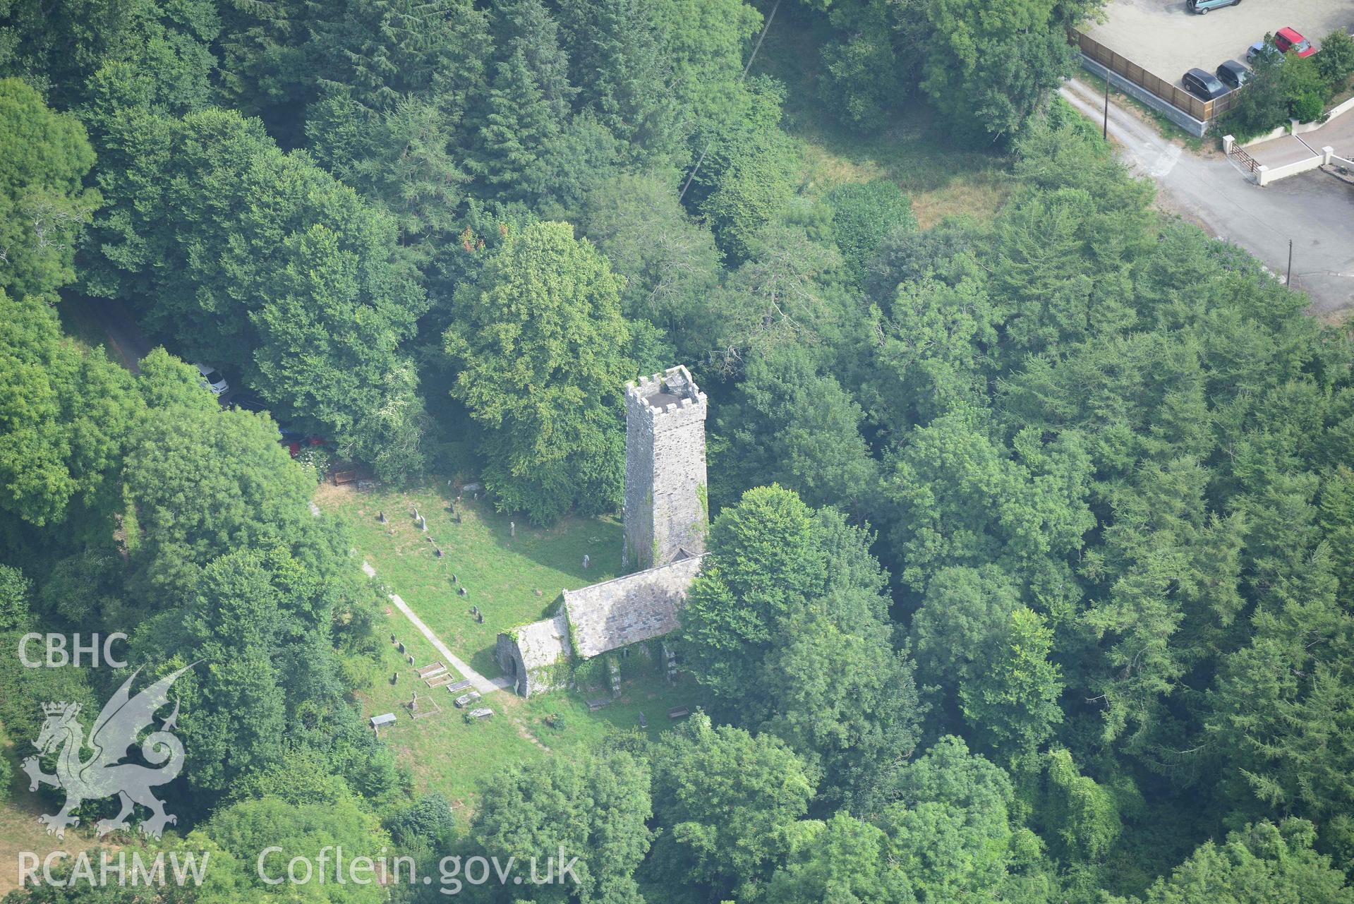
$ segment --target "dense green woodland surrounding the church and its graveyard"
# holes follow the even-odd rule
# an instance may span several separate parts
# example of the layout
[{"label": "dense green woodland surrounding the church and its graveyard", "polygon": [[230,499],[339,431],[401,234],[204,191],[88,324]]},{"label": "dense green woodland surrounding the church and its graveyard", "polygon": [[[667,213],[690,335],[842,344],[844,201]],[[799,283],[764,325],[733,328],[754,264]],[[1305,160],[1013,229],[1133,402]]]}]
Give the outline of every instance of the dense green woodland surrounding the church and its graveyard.
[{"label": "dense green woodland surrounding the church and its graveyard", "polygon": [[[745,69],[773,12],[816,58]],[[127,631],[204,663],[160,844],[214,869],[156,900],[444,900],[253,857],[563,843],[578,885],[462,893],[1354,901],[1354,349],[1051,101],[1093,12],[0,0],[0,789],[42,701],[122,681],[18,637]],[[1009,198],[921,230],[887,179],[807,185],[795,66],[842,134],[927,106]],[[129,372],[77,300],[173,353]],[[552,524],[619,507],[623,382],[674,363],[711,394],[678,646],[714,704],[506,763],[458,823],[359,716],[378,590],[276,424]]]}]

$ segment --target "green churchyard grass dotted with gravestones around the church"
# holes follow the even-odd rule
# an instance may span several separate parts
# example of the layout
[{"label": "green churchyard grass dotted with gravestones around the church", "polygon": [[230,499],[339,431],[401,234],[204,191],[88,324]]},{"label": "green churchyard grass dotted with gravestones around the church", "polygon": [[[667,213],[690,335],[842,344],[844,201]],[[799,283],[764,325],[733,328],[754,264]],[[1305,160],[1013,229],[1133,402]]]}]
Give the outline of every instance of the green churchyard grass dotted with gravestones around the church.
[{"label": "green churchyard grass dotted with gravestones around the church", "polygon": [[[458,506],[445,486],[395,491],[357,493],[348,487],[321,487],[318,505],[347,521],[359,553],[366,558],[382,583],[398,593],[418,617],[452,652],[468,660],[482,674],[501,673],[493,660],[493,644],[500,631],[540,618],[558,605],[562,587],[582,587],[615,577],[620,571],[620,525],[611,518],[565,521],[548,530],[517,525],[510,536],[509,518],[483,501],[464,495]],[[410,517],[412,506],[428,520],[424,535]],[[376,521],[385,512],[389,524]],[[444,549],[433,555],[432,537]],[[584,571],[582,556],[592,559]],[[459,597],[451,574],[470,587]],[[542,590],[536,595],[535,590]],[[485,613],[485,624],[470,617],[470,605]],[[395,635],[414,658],[413,664],[393,644],[385,643],[376,678],[357,694],[364,719],[386,712],[397,716],[380,736],[395,751],[397,761],[413,775],[418,792],[439,790],[456,809],[458,826],[464,827],[474,812],[478,789],[494,771],[509,763],[533,762],[608,736],[642,732],[639,713],[649,720],[650,739],[669,727],[668,710],[695,709],[703,701],[701,689],[681,677],[668,685],[658,663],[635,654],[621,664],[621,696],[598,712],[588,712],[586,700],[609,697],[592,686],[558,690],[523,700],[512,692],[486,696],[477,705],[494,710],[494,717],[466,723],[452,704],[455,694],[444,687],[429,689],[414,673],[418,666],[440,656],[432,644],[393,605],[386,608],[379,631],[389,640]],[[391,678],[398,673],[398,679]],[[408,704],[413,692],[420,702],[433,702],[440,712],[410,719]]]}]

